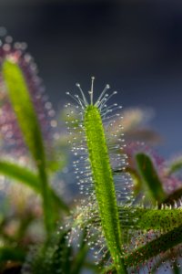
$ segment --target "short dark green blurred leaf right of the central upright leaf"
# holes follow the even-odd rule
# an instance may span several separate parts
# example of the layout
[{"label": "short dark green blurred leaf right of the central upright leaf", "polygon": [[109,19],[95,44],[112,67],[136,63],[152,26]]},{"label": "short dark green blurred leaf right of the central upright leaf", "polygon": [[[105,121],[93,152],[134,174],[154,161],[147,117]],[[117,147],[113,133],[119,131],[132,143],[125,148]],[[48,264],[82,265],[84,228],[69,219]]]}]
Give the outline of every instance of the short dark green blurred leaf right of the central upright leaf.
[{"label": "short dark green blurred leaf right of the central upright leaf", "polygon": [[137,153],[136,163],[139,174],[154,202],[163,202],[167,195],[163,190],[162,183],[150,157],[145,153]]}]

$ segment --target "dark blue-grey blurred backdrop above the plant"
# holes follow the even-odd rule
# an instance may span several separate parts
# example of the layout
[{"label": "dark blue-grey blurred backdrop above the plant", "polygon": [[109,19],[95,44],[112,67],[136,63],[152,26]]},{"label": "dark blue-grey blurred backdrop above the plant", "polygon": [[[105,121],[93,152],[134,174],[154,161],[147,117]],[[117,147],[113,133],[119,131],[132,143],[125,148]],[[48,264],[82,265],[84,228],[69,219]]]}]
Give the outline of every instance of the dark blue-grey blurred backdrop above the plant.
[{"label": "dark blue-grey blurred backdrop above the plant", "polygon": [[182,2],[1,0],[0,26],[25,41],[56,110],[96,77],[125,107],[155,111],[162,155],[182,152]]}]

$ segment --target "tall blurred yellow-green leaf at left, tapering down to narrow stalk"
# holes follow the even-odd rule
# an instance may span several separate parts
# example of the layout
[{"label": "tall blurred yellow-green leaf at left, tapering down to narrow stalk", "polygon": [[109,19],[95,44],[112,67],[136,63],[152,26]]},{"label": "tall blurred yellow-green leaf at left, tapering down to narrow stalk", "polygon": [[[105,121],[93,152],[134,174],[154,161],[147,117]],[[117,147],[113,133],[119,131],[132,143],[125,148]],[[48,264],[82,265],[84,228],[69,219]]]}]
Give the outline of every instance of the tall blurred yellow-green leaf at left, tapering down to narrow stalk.
[{"label": "tall blurred yellow-green leaf at left, tapering down to narrow stalk", "polygon": [[18,64],[10,59],[5,59],[3,66],[3,77],[8,96],[19,127],[30,153],[35,160],[38,169],[43,196],[43,207],[45,213],[45,228],[47,235],[54,229],[54,212],[51,199],[49,199],[47,175],[45,172],[45,149],[40,126],[35,114],[35,108],[27,88],[24,74]]}]

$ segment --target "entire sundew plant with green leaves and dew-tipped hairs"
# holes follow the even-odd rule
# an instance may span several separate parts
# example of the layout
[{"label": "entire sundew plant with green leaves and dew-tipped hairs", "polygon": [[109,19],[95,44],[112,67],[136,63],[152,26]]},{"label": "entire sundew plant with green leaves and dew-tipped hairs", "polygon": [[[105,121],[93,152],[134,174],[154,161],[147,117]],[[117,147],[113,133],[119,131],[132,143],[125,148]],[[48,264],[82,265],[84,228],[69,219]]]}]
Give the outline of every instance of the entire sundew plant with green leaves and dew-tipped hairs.
[{"label": "entire sundew plant with green leaves and dew-tipped hairs", "polygon": [[181,273],[182,156],[137,140],[146,112],[94,80],[66,92],[65,132],[25,43],[0,40],[0,273]]}]

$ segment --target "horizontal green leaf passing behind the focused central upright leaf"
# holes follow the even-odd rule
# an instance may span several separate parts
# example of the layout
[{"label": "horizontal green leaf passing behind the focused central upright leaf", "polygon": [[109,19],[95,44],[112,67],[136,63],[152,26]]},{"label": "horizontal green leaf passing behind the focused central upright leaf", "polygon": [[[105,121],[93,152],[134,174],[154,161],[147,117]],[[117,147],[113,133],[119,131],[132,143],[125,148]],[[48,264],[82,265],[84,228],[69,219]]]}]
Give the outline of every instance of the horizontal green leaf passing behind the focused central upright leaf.
[{"label": "horizontal green leaf passing behind the focused central upright leaf", "polygon": [[[165,229],[173,229],[175,227],[182,226],[182,210],[180,208],[166,208],[155,209],[155,208],[144,208],[144,207],[129,207],[129,206],[118,206],[119,220],[121,229],[129,230],[157,230],[164,231]],[[90,218],[86,219],[86,215]],[[100,226],[100,217],[96,210],[91,212],[84,212],[76,216],[76,221],[72,227],[82,227],[82,229],[89,227]]]}]

